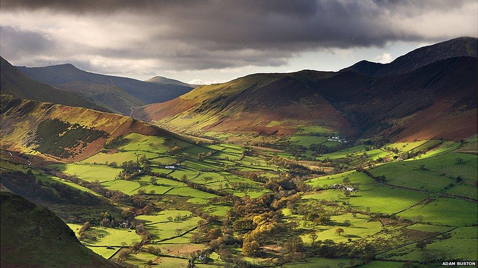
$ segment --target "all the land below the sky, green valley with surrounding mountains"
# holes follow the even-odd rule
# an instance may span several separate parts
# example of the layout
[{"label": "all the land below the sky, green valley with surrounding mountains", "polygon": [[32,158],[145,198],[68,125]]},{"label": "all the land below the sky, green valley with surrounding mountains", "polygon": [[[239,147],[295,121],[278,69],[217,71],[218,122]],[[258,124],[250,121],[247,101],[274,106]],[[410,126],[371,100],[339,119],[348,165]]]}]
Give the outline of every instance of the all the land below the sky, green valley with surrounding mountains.
[{"label": "all the land below the sky, green valley with surrounding mountains", "polygon": [[[450,47],[468,50],[436,58]],[[200,86],[110,83],[72,65],[14,72],[81,93],[77,103],[21,95],[2,67],[1,265],[476,261],[476,38],[429,49],[407,54],[411,67],[398,58]],[[185,94],[146,102],[151,84],[130,87],[165,81]]]}]

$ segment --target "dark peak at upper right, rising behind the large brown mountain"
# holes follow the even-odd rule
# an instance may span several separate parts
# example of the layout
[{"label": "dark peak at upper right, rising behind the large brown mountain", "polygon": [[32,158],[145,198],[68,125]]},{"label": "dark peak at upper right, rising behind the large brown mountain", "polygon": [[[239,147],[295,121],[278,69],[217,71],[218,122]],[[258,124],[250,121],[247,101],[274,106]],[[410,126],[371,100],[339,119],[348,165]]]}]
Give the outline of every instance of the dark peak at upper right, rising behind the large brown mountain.
[{"label": "dark peak at upper right, rising behind the large brown mountain", "polygon": [[354,70],[368,76],[383,77],[404,74],[432,62],[461,56],[477,57],[477,38],[458,37],[417,48],[390,63],[360,61],[341,71]]}]

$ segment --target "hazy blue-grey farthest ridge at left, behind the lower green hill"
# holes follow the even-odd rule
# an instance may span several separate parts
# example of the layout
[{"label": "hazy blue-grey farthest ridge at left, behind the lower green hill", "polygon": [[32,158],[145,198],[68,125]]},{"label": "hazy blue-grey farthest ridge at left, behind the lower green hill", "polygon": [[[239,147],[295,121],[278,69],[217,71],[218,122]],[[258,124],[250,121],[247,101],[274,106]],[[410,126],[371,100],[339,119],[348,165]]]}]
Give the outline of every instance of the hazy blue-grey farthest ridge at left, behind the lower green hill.
[{"label": "hazy blue-grey farthest ridge at left, behind the lower green hill", "polygon": [[[183,95],[192,89],[190,85],[144,82],[131,78],[90,73],[80,70],[72,64],[31,68],[22,66],[17,68],[24,74],[41,82],[46,82],[59,88],[65,87],[78,91],[79,93],[82,92],[81,88],[85,85],[88,85],[94,91],[100,92],[104,89],[103,85],[112,85],[115,86],[115,88],[122,89],[123,95],[125,92],[130,95],[126,98],[125,102],[130,102],[129,105],[132,106],[138,104],[137,101],[132,101],[133,98],[143,103],[161,103]],[[72,86],[72,83],[77,82],[83,83],[80,87]],[[111,103],[108,102],[105,104],[112,106]],[[128,110],[129,107],[131,106],[127,106]]]}]

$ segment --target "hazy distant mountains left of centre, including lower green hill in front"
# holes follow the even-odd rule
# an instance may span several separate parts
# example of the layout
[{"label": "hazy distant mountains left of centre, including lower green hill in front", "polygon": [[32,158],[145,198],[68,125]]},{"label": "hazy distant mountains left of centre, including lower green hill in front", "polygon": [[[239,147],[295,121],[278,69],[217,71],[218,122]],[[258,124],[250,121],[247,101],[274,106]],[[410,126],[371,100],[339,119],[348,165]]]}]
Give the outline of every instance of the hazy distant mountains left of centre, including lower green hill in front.
[{"label": "hazy distant mountains left of centre, including lower green hill in front", "polygon": [[30,78],[77,93],[96,105],[122,114],[130,114],[132,107],[174,99],[195,87],[164,77],[140,81],[95,74],[80,70],[72,64],[31,68],[21,66],[17,69]]}]

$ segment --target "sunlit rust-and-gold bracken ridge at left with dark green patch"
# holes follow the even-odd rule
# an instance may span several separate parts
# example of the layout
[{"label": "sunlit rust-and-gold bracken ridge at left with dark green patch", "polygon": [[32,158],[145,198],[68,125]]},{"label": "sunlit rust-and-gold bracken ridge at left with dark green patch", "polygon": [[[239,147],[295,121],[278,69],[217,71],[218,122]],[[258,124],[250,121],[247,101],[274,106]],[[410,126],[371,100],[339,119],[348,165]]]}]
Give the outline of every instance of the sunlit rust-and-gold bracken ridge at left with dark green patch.
[{"label": "sunlit rust-and-gold bracken ridge at left with dark green patch", "polygon": [[119,114],[0,96],[1,148],[50,160],[81,161],[107,141],[130,133],[182,140],[157,126]]}]

